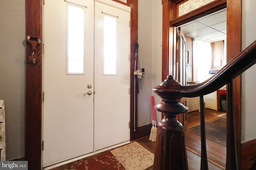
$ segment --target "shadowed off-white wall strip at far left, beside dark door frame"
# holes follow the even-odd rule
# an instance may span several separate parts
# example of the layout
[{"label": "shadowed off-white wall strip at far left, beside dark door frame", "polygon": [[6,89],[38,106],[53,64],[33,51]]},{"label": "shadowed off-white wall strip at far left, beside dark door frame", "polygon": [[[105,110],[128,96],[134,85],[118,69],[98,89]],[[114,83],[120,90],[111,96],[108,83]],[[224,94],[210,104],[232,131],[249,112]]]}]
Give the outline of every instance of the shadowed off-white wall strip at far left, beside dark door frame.
[{"label": "shadowed off-white wall strip at far left, beside dark door frame", "polygon": [[25,0],[0,0],[0,99],[6,160],[25,155]]}]

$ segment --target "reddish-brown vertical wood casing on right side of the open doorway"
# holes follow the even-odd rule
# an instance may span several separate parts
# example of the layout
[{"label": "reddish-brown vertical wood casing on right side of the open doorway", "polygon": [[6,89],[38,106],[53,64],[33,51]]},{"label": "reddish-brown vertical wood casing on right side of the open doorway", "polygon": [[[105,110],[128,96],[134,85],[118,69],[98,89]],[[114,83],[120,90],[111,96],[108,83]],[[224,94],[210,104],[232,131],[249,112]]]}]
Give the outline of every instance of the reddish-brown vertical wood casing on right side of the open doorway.
[{"label": "reddish-brown vertical wood casing on right side of the open doorway", "polygon": [[[227,0],[227,63],[241,52],[242,0]],[[241,169],[241,76],[233,80],[236,151]],[[228,102],[228,101],[227,101]]]}]

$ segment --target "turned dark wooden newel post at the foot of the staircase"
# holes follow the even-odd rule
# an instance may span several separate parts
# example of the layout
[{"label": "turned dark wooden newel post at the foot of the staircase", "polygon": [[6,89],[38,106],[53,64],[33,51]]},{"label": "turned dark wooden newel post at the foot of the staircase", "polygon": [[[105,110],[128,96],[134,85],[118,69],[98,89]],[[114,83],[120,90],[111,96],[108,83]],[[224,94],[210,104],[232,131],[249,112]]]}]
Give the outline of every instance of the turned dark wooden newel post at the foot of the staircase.
[{"label": "turned dark wooden newel post at the foot of the staircase", "polygon": [[153,91],[162,98],[162,102],[155,105],[156,110],[164,114],[158,123],[154,170],[188,170],[185,136],[182,124],[177,115],[188,111],[188,107],[180,104],[181,84],[167,77]]}]

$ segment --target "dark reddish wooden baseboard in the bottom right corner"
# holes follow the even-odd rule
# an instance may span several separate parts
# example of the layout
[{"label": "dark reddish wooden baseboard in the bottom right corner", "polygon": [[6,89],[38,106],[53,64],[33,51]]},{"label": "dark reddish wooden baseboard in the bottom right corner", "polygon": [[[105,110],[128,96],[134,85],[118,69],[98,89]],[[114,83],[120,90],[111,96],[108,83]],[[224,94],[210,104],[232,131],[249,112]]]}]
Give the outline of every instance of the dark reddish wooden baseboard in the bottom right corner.
[{"label": "dark reddish wooden baseboard in the bottom right corner", "polygon": [[248,170],[256,160],[256,139],[241,144],[241,170]]}]

